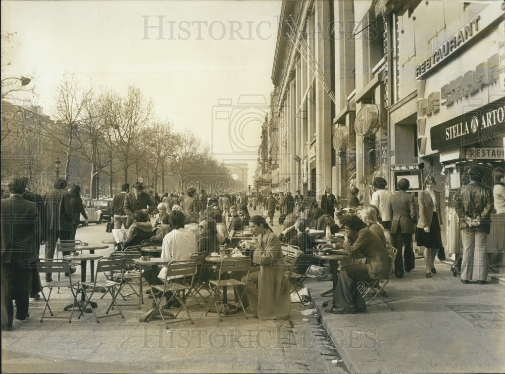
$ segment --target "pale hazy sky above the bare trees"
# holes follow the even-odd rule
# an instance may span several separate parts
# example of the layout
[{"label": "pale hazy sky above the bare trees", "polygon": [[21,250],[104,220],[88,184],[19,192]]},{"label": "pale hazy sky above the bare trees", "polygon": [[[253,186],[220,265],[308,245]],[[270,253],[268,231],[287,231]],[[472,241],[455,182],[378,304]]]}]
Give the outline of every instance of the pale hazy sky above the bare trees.
[{"label": "pale hazy sky above the bare trees", "polygon": [[[124,95],[139,87],[160,119],[192,130],[219,161],[256,168],[268,111],[279,0],[2,1],[17,45],[4,77],[33,78],[51,115],[65,71]],[[161,25],[161,27],[160,27]]]}]

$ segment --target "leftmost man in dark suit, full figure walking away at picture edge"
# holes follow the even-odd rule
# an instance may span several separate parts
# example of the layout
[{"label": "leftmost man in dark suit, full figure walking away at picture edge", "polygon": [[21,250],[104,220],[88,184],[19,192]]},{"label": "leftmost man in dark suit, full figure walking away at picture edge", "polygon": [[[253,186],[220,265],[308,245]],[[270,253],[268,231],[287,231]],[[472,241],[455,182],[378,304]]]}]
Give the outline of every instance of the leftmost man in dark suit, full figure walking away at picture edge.
[{"label": "leftmost man in dark suit, full figure walking away at picture edge", "polygon": [[20,178],[9,183],[11,196],[2,200],[2,330],[12,329],[16,318],[28,313],[30,264],[38,257],[40,217],[37,205],[23,199]]}]

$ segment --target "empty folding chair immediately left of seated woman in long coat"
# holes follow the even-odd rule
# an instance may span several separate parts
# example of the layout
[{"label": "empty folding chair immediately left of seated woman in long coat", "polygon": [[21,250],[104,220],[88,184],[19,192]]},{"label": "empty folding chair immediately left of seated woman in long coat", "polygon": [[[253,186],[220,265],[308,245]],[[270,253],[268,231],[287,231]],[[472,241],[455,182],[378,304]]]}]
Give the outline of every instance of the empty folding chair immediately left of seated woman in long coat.
[{"label": "empty folding chair immediately left of seated woman in long coat", "polygon": [[[242,310],[245,315],[245,319],[248,319],[247,313],[245,313],[244,304],[242,303],[242,297],[244,296],[245,286],[247,284],[247,280],[249,279],[250,266],[251,266],[251,259],[249,257],[224,258],[221,261],[221,266],[219,267],[218,280],[210,280],[209,281],[209,283],[211,284],[211,289],[212,289],[212,286],[216,287],[214,290],[212,290],[213,291],[212,302],[214,303],[214,306],[216,307],[216,312],[218,313],[219,321],[222,321],[222,318],[221,318],[221,314],[219,313],[219,307],[216,302],[216,297],[219,295],[219,290],[221,289],[221,287],[230,287],[230,286],[233,287],[235,294],[238,296],[239,306],[242,307]],[[241,282],[241,280],[237,280],[237,279],[233,279],[233,278],[226,279],[227,276],[226,275],[223,276],[224,274],[228,274],[233,271],[246,271],[247,275],[245,278],[245,283]],[[242,293],[242,295],[240,295],[240,293],[236,289],[237,286],[244,286],[244,292]],[[207,308],[207,312],[205,313],[205,315],[207,315],[207,313],[209,313],[209,311],[211,310],[211,306],[212,306],[212,303],[209,305],[209,308]]]}]

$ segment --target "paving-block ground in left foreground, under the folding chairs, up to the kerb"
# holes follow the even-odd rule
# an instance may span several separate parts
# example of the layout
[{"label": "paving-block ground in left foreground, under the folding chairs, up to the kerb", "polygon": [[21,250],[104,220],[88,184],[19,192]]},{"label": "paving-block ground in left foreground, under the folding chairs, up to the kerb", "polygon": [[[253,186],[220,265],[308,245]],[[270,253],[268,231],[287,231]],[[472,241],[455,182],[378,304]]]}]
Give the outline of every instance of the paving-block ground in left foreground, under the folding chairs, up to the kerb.
[{"label": "paving-block ground in left foreground, under the folding chairs, up to the kerb", "polygon": [[[105,224],[77,231],[77,239],[90,244],[109,236]],[[97,253],[111,251],[112,246]],[[231,292],[229,296],[233,298]],[[53,293],[53,310],[61,312],[70,298],[67,290]],[[106,299],[110,297],[98,299],[99,314],[108,305]],[[96,323],[89,313],[80,319],[74,315],[71,323],[45,319],[40,323],[44,302],[31,301],[31,317],[26,322],[15,320],[13,331],[2,332],[2,371],[346,372],[316,316],[300,313],[312,305],[293,303],[287,321],[245,319],[242,314],[222,322],[194,306],[190,308],[194,324],[174,323],[167,330],[160,318],[139,322],[150,302],[146,297],[141,310],[122,307],[124,319],[112,316]]]}]

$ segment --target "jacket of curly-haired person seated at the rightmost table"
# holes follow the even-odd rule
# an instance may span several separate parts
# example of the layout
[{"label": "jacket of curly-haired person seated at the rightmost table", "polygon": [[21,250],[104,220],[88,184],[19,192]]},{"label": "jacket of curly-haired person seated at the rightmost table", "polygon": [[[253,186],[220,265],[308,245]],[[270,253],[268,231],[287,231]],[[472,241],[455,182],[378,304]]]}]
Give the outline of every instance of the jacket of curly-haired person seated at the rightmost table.
[{"label": "jacket of curly-haired person seated at the rightmost table", "polygon": [[379,236],[369,228],[362,228],[356,235],[356,241],[344,242],[343,248],[351,258],[364,255],[367,258],[368,275],[373,279],[386,278],[391,270],[391,257]]}]

